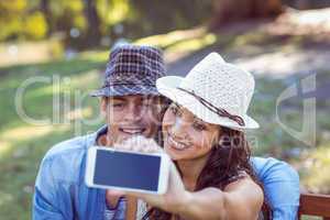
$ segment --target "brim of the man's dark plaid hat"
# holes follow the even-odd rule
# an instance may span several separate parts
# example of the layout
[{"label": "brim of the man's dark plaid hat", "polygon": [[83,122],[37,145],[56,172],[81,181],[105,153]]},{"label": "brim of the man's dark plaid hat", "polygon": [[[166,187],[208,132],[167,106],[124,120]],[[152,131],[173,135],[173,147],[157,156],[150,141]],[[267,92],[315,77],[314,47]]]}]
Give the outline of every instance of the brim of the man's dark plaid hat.
[{"label": "brim of the man's dark plaid hat", "polygon": [[130,96],[130,95],[154,95],[160,96],[154,86],[146,85],[117,85],[100,88],[89,94],[91,97],[114,97],[114,96]]}]

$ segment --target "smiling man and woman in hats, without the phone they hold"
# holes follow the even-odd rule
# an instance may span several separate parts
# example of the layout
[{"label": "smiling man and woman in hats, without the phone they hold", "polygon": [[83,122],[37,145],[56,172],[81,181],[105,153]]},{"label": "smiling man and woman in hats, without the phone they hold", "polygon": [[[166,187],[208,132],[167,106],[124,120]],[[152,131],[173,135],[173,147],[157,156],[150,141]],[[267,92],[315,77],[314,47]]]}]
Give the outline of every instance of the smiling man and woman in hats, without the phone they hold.
[{"label": "smiling man and woman in hats, without the phone they hold", "polygon": [[[244,131],[258,127],[246,114],[252,75],[217,53],[185,78],[164,73],[162,52],[154,47],[111,52],[105,86],[92,94],[101,97],[107,125],[47,152],[35,183],[33,219],[135,219],[141,201],[147,204],[147,219],[267,219],[272,212],[273,219],[296,218],[296,172],[274,158],[250,158]],[[130,144],[136,134],[155,139],[174,161],[168,191],[122,197],[88,188],[88,147],[161,151],[151,142],[147,148]]]}]

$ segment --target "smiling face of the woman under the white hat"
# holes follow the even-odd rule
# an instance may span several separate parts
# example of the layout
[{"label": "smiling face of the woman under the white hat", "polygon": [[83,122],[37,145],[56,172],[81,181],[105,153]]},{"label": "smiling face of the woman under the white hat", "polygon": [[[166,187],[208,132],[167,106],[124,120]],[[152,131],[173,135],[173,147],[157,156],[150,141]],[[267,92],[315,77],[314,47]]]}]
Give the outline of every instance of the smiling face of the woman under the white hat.
[{"label": "smiling face of the woman under the white hat", "polygon": [[164,148],[174,161],[207,156],[219,140],[220,127],[204,122],[172,103],[163,119]]}]

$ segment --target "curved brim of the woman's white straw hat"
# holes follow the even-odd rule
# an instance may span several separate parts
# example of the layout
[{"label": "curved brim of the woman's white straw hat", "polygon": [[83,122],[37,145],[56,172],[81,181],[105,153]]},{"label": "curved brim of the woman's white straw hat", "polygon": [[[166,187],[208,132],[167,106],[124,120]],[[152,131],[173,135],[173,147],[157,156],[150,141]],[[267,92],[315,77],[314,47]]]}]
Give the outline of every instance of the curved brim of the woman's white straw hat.
[{"label": "curved brim of the woman's white straw hat", "polygon": [[178,76],[162,77],[156,81],[157,90],[161,95],[188,109],[196,117],[208,123],[219,124],[234,130],[260,128],[258,123],[248,114],[240,116],[244,120],[244,125],[240,125],[231,119],[219,117],[213,111],[210,111],[194,96],[177,89],[183,79],[183,77]]}]

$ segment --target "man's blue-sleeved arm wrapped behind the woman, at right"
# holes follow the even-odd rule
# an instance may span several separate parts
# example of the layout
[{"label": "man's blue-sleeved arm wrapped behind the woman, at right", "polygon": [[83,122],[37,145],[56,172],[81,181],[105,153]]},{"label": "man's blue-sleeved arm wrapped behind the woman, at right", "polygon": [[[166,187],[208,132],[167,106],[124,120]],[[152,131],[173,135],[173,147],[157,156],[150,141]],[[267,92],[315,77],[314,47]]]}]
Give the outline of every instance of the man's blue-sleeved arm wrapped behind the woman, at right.
[{"label": "man's blue-sleeved arm wrapped behind the woman, at right", "polygon": [[287,163],[275,158],[252,157],[254,170],[264,185],[274,220],[295,220],[299,206],[299,176]]}]

